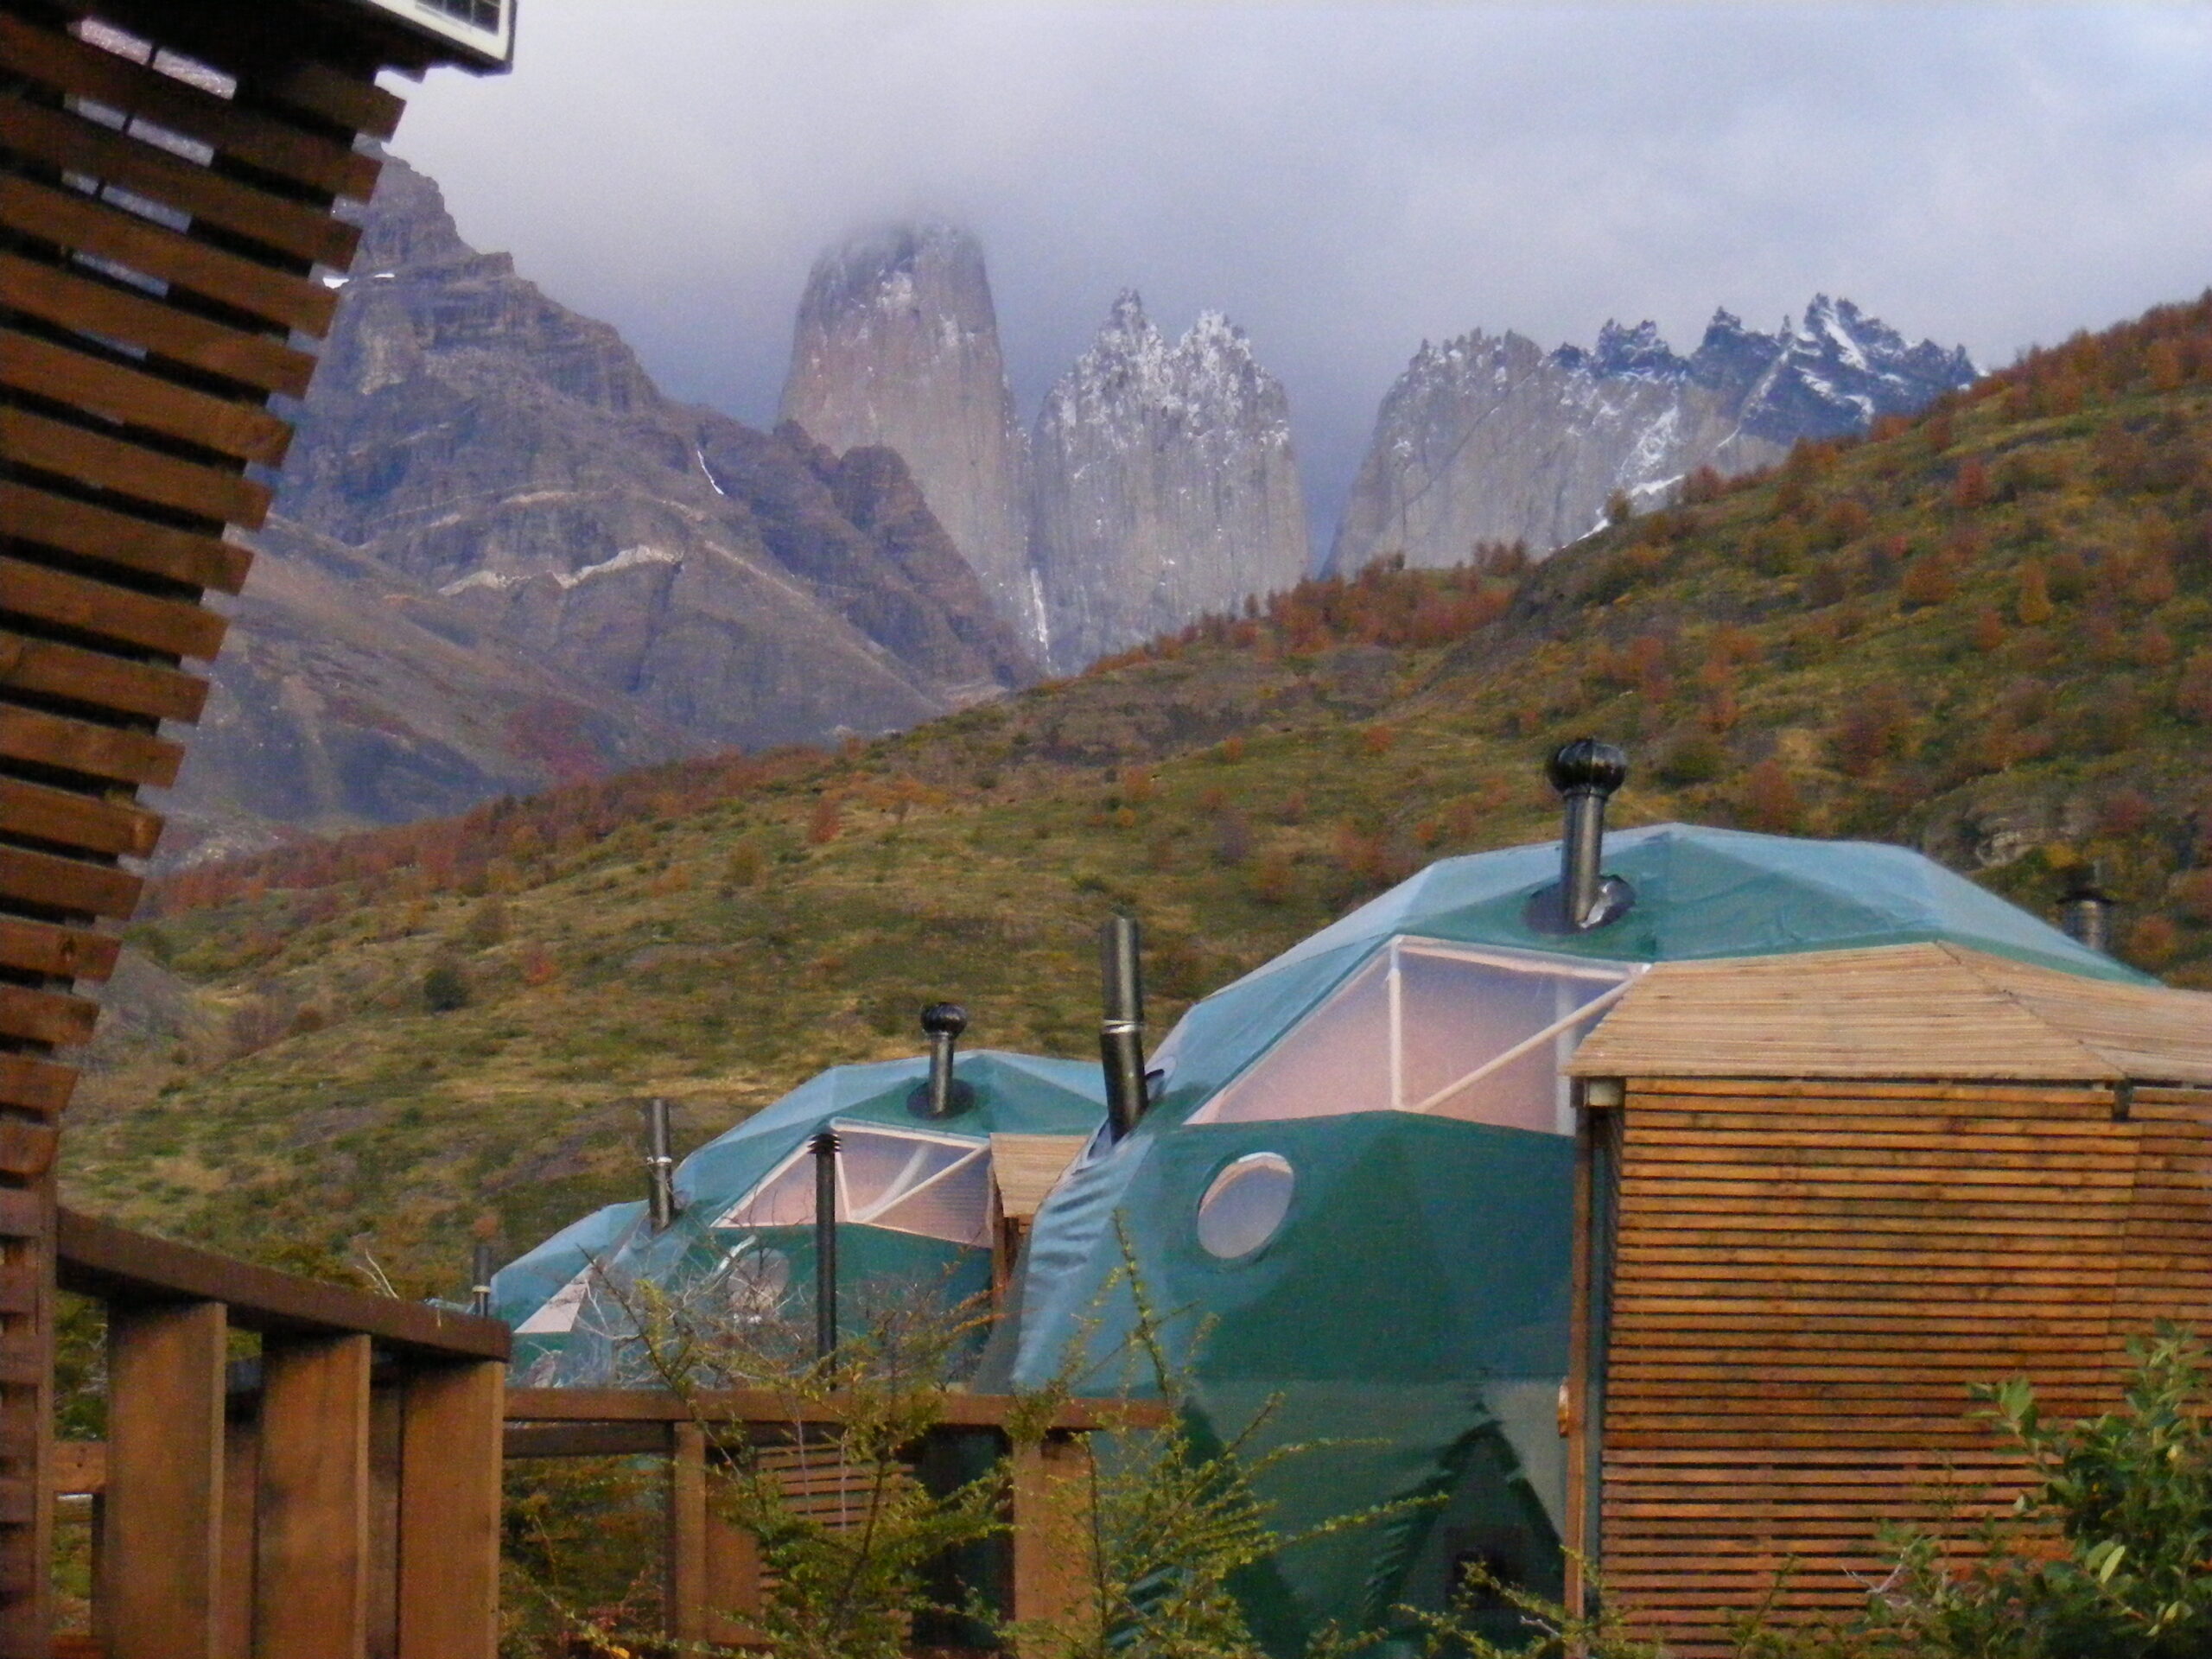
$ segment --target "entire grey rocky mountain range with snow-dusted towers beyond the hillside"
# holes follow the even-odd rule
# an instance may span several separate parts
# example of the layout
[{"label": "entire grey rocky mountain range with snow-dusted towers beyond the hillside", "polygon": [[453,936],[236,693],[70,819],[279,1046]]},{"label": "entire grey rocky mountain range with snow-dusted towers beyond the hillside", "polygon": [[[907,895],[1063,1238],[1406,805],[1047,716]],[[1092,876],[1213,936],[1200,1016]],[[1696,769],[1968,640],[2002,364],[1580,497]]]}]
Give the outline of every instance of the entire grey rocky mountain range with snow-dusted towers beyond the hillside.
[{"label": "entire grey rocky mountain range with snow-dusted towers beyond the hillside", "polygon": [[[1964,352],[1847,301],[1542,354],[1425,345],[1332,564],[1537,553],[1613,493],[1920,407]],[[1290,403],[1217,312],[1135,292],[1015,418],[980,243],[832,248],[781,422],[666,398],[606,323],[471,248],[392,159],[279,480],[164,863],[458,812],[717,748],[900,730],[1294,586]]]}]

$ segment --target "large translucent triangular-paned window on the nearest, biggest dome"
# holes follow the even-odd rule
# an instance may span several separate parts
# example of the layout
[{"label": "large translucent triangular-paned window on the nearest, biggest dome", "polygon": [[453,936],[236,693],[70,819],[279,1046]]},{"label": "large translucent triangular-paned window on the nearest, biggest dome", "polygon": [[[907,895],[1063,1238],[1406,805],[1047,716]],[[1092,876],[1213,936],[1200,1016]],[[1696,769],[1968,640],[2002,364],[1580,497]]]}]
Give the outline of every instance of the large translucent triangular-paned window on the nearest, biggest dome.
[{"label": "large translucent triangular-paned window on the nearest, biggest dome", "polygon": [[1394,940],[1192,1121],[1402,1110],[1571,1133],[1562,1068],[1630,973]]}]

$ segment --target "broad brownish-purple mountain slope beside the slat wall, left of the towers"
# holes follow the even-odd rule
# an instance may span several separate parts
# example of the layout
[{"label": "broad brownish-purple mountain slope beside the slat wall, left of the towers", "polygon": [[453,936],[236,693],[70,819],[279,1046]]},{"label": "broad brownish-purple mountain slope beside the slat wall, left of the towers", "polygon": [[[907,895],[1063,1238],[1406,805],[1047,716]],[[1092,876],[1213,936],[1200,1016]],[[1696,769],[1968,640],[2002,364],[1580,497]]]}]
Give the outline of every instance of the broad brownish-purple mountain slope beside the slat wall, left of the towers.
[{"label": "broad brownish-purple mountain slope beside the slat wall, left of the towers", "polygon": [[661,398],[398,161],[276,513],[179,785],[215,836],[891,730],[1035,675],[896,456]]}]

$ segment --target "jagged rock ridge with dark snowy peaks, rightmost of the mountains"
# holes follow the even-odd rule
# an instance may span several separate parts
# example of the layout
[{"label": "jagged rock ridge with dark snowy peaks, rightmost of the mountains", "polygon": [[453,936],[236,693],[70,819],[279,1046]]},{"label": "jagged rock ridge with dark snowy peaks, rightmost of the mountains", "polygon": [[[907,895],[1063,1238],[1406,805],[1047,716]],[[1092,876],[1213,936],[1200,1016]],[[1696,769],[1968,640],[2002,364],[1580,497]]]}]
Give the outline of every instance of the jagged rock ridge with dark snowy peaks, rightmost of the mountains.
[{"label": "jagged rock ridge with dark snowy peaks, rightmost of the mountains", "polygon": [[1699,467],[1761,467],[1973,378],[1964,347],[1907,345],[1825,294],[1774,334],[1714,312],[1688,358],[1652,323],[1608,323],[1588,352],[1480,330],[1422,343],[1383,400],[1329,568],[1462,564],[1478,542],[1546,553],[1615,491],[1648,504]]}]

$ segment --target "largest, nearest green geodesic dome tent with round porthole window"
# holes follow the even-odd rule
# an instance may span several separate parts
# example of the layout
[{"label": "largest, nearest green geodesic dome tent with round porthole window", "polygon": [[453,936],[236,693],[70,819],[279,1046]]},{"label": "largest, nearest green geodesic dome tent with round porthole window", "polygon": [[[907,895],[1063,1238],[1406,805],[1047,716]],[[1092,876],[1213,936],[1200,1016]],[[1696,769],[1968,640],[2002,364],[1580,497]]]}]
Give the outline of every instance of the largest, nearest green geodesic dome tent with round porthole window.
[{"label": "largest, nearest green geodesic dome tent with round porthole window", "polygon": [[1037,1217],[987,1383],[1040,1385],[1082,1347],[1117,1385],[1126,1250],[1157,1305],[1212,1321],[1186,1347],[1203,1431],[1272,1400],[1265,1442],[1356,1436],[1272,1475],[1285,1526],[1438,1500],[1256,1575],[1281,1652],[1440,1606],[1471,1562],[1559,1593],[1582,1535],[1566,1066],[1655,964],[1949,945],[2146,984],[1902,847],[1657,825],[1608,836],[1604,867],[1635,905],[1555,931],[1557,843],[1449,858],[1206,998],[1152,1060],[1148,1115]]}]

